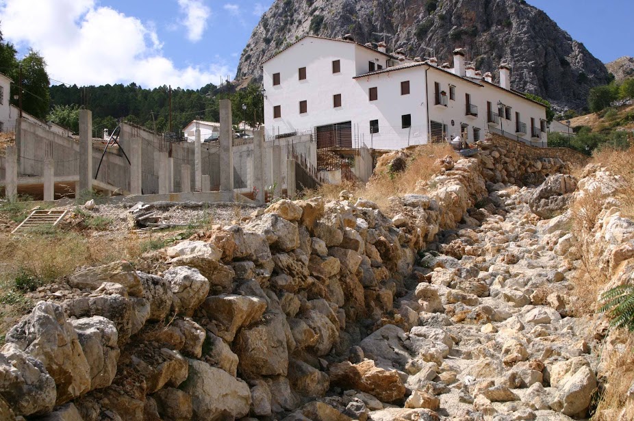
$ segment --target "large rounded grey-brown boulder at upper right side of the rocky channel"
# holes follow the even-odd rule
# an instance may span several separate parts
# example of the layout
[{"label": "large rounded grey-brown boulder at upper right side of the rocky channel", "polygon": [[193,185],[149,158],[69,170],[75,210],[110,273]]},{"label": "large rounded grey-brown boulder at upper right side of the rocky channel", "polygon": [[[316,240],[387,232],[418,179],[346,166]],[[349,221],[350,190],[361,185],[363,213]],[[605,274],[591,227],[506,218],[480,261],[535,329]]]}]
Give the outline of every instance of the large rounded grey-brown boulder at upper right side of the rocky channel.
[{"label": "large rounded grey-brown boulder at upper right side of the rocky channel", "polygon": [[551,175],[530,196],[531,212],[544,219],[563,213],[572,198],[570,193],[575,188],[576,179],[572,175]]}]

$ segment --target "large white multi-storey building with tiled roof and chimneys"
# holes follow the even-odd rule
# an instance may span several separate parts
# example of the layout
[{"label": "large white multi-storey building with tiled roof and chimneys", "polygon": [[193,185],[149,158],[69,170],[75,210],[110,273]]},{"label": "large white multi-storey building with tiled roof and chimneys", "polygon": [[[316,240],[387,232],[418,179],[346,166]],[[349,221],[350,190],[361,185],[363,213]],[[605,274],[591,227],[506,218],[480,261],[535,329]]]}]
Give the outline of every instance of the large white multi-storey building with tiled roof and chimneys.
[{"label": "large white multi-storey building with tiled roof and chimneys", "polygon": [[464,54],[455,50],[450,68],[388,54],[383,43],[305,36],[264,63],[266,134],[312,131],[320,148],[401,149],[491,130],[544,146],[544,105],[511,90],[509,66],[498,86]]}]

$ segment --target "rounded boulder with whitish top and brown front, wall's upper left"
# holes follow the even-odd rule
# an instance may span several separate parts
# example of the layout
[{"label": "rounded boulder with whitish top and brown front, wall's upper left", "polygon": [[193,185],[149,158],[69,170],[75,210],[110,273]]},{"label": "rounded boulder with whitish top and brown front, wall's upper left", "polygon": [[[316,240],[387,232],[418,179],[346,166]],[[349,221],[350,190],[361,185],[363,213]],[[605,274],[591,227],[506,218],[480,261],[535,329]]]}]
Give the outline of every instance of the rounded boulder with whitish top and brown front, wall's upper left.
[{"label": "rounded boulder with whitish top and brown front, wall's upper left", "polygon": [[164,277],[172,291],[172,309],[176,313],[192,316],[209,293],[207,278],[198,269],[188,266],[170,268],[165,271]]}]

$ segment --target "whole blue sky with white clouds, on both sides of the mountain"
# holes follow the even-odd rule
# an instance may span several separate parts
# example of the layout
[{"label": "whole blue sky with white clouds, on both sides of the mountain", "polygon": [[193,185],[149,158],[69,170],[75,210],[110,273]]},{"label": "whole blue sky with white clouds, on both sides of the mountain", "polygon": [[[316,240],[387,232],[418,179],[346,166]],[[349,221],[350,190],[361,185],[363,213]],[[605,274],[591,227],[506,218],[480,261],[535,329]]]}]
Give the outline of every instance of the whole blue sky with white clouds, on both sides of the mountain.
[{"label": "whole blue sky with white clouds, on both sides of the mountain", "polygon": [[[634,0],[527,0],[603,62],[634,55]],[[1,29],[55,81],[200,88],[232,79],[272,0],[0,0]]]}]

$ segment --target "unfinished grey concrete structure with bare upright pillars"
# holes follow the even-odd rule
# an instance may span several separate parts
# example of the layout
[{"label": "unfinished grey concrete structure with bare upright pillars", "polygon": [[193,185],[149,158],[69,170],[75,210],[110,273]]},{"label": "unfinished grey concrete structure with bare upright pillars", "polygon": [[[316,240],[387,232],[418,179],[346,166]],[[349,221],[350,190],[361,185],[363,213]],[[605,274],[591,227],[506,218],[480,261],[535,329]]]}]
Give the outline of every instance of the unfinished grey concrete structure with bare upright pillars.
[{"label": "unfinished grey concrete structure with bare upright pillars", "polygon": [[90,136],[89,110],[80,111],[79,139],[18,119],[16,144],[0,155],[0,188],[10,198],[29,194],[53,200],[100,190],[107,196],[152,196],[144,200],[178,201],[183,194],[203,194],[196,200],[262,203],[266,196],[294,196],[318,184],[311,167],[316,162],[312,136],[265,141],[264,132],[255,131],[253,139],[234,139],[230,101],[220,102],[220,116],[220,139],[215,142],[201,142],[199,133],[194,142],[172,142],[121,123],[118,144],[105,151],[103,142]]}]

